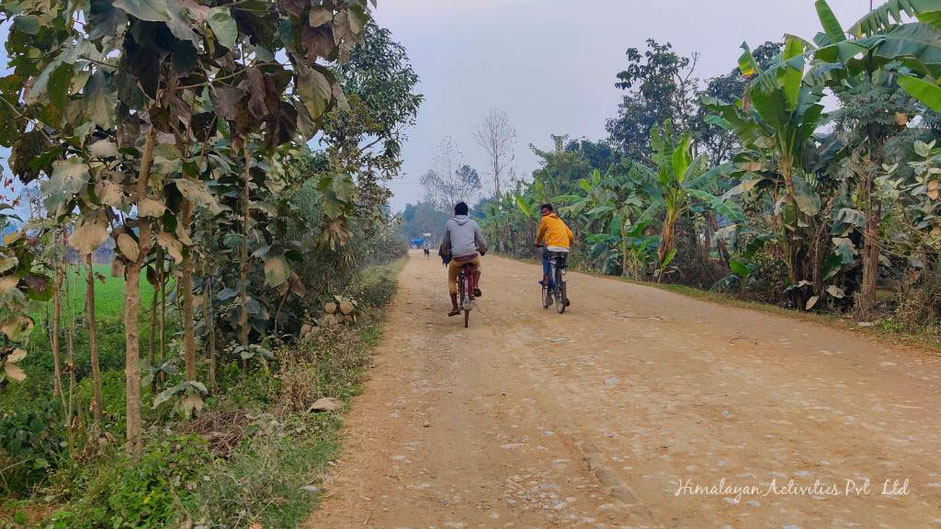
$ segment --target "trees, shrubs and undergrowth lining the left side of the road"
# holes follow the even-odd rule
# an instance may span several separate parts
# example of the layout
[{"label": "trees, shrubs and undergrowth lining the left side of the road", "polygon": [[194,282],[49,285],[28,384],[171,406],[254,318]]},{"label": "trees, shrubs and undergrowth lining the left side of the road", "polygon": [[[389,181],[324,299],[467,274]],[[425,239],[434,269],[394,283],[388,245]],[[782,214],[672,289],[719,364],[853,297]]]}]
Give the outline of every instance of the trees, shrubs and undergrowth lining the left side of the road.
[{"label": "trees, shrubs and undergrowth lining the left side of the road", "polygon": [[0,526],[294,527],[404,255],[366,0],[0,2]]}]

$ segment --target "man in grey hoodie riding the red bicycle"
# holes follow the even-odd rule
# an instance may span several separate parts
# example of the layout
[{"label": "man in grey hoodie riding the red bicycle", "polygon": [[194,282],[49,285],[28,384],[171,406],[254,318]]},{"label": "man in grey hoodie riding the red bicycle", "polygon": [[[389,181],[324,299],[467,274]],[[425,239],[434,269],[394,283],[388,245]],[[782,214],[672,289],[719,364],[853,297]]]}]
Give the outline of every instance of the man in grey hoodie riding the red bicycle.
[{"label": "man in grey hoodie riding the red bicycle", "polygon": [[[471,263],[477,274],[476,284],[480,286],[480,256],[487,253],[487,242],[480,226],[467,216],[467,204],[458,202],[454,206],[454,217],[444,225],[444,238],[438,255],[448,265],[448,294],[451,296],[451,312],[448,316],[457,316],[461,308],[457,304],[457,276],[461,266]],[[474,289],[474,295],[480,297],[480,288]]]}]

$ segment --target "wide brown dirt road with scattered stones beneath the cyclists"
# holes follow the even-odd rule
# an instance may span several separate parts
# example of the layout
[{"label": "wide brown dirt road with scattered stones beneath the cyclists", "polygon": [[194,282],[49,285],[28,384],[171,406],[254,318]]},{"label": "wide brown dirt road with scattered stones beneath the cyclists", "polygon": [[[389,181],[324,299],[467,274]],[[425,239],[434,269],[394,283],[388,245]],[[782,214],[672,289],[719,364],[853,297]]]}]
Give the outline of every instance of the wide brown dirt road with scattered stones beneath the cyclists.
[{"label": "wide brown dirt road with scattered stones beneath the cyclists", "polygon": [[937,356],[576,273],[559,315],[537,265],[483,273],[464,329],[411,255],[306,527],[941,527]]}]

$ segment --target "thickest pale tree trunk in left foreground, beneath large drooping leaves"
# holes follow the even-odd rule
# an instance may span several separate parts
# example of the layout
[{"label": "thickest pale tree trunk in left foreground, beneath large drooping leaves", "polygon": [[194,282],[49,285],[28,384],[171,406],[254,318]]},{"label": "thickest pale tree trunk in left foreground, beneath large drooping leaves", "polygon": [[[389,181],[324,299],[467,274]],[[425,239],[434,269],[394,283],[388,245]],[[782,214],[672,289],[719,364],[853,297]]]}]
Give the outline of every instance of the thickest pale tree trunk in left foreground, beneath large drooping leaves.
[{"label": "thickest pale tree trunk in left foreground, beneath large drooping leaves", "polygon": [[[140,203],[147,194],[150,166],[154,159],[154,142],[157,129],[151,125],[144,142],[140,172],[137,175],[135,202]],[[137,313],[140,308],[140,270],[150,251],[150,222],[138,217],[140,228],[139,255],[128,263],[124,284],[124,379],[127,391],[125,419],[127,422],[125,450],[135,460],[140,457],[140,343],[138,342]]]}]

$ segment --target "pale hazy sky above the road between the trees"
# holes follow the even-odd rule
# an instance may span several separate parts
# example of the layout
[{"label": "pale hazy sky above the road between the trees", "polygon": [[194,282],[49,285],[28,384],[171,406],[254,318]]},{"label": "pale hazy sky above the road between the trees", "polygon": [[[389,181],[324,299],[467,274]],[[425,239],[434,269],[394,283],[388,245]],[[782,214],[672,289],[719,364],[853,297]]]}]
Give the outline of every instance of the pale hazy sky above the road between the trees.
[{"label": "pale hazy sky above the road between the trees", "polygon": [[[421,199],[421,175],[446,136],[484,176],[487,157],[473,131],[493,108],[517,130],[516,172],[538,167],[529,148],[550,135],[600,140],[617,115],[615,76],[625,51],[648,38],[684,55],[701,54],[697,77],[734,69],[747,41],[756,46],[785,33],[812,38],[821,30],[812,0],[378,0],[377,22],[408,50],[425,96],[408,131],[404,170],[391,182],[393,211]],[[844,27],[869,0],[829,0]]]}]

